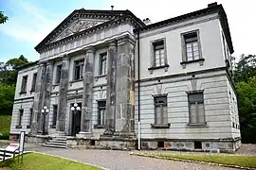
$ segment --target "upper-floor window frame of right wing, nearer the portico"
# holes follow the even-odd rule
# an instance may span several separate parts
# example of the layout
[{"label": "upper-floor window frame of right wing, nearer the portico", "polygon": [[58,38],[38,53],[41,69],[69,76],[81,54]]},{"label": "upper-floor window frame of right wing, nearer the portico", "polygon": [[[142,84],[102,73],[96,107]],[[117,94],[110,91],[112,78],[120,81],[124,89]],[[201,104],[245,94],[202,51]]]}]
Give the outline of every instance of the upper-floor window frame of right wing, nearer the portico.
[{"label": "upper-floor window frame of right wing, nearer the portico", "polygon": [[[162,65],[160,62],[160,65],[155,65],[155,46],[159,45],[158,43],[163,43],[163,50],[164,50],[164,64]],[[149,71],[160,69],[160,68],[166,68],[165,71],[167,71],[168,65],[168,59],[167,59],[167,48],[166,48],[166,38],[157,39],[150,42],[151,50],[150,50],[150,56],[151,56],[151,67],[148,68]],[[162,49],[162,48],[161,48]],[[162,58],[160,58],[162,59]]]}]

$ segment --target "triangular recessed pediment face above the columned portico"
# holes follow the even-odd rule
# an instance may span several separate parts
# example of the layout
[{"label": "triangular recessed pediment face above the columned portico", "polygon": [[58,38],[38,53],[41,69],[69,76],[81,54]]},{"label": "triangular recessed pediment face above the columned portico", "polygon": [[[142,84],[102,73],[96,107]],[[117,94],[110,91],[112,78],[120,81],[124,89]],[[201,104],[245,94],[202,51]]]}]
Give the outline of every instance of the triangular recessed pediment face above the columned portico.
[{"label": "triangular recessed pediment face above the columned portico", "polygon": [[62,40],[65,37],[81,32],[90,27],[101,25],[106,21],[108,20],[96,20],[96,19],[86,19],[86,18],[78,19],[77,21],[74,21],[70,26],[65,28],[64,31],[60,32],[59,35],[57,35],[57,37],[52,42]]}]

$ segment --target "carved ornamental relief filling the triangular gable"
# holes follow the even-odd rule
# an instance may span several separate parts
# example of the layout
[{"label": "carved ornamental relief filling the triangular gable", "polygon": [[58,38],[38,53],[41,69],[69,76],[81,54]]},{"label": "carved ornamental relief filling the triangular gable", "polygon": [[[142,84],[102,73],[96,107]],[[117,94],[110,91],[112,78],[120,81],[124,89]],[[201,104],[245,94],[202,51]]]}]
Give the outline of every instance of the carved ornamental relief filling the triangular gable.
[{"label": "carved ornamental relief filling the triangular gable", "polygon": [[67,29],[64,30],[59,37],[54,40],[53,42],[56,42],[58,40],[64,39],[65,37],[68,37],[72,34],[75,34],[77,32],[80,32],[84,29],[88,29],[90,27],[96,26],[101,24],[102,22],[98,21],[86,21],[86,20],[78,20],[76,21],[72,26],[68,27]]}]

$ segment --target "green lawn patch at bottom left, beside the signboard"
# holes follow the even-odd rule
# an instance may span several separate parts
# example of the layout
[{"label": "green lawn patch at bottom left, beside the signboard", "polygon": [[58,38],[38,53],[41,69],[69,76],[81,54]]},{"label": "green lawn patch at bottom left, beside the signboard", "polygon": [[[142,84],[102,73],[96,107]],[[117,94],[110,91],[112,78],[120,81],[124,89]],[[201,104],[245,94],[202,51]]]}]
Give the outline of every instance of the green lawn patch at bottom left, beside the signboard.
[{"label": "green lawn patch at bottom left, beside the signboard", "polygon": [[39,153],[27,153],[24,155],[23,163],[19,164],[17,159],[15,162],[8,160],[5,163],[0,162],[0,169],[9,170],[101,170],[98,167],[85,165],[81,162],[68,161],[58,157],[53,157]]}]

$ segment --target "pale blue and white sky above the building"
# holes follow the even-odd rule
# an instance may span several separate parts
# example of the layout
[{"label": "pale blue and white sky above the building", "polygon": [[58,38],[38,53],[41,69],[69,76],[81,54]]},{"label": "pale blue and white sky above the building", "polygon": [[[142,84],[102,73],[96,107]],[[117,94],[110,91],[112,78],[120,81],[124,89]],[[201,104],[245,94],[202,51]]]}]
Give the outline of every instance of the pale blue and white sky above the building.
[{"label": "pale blue and white sky above the building", "polygon": [[233,57],[256,54],[255,0],[0,0],[0,11],[9,21],[0,25],[0,62],[24,55],[39,59],[34,47],[74,9],[129,9],[152,23],[173,18],[217,2],[226,10]]}]

